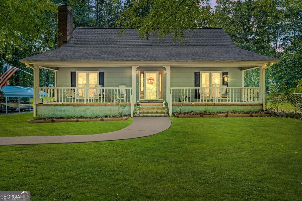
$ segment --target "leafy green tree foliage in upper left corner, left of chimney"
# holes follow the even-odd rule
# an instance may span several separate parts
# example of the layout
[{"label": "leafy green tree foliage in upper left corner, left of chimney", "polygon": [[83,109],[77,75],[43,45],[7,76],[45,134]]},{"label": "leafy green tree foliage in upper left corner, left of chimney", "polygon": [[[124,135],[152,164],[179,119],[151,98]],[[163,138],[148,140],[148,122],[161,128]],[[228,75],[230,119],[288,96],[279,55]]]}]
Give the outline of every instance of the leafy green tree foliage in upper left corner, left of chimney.
[{"label": "leafy green tree foliage in upper left corner, left of chimney", "polygon": [[27,40],[41,39],[47,29],[43,13],[56,11],[51,0],[3,0],[0,4],[0,53],[24,47]]}]

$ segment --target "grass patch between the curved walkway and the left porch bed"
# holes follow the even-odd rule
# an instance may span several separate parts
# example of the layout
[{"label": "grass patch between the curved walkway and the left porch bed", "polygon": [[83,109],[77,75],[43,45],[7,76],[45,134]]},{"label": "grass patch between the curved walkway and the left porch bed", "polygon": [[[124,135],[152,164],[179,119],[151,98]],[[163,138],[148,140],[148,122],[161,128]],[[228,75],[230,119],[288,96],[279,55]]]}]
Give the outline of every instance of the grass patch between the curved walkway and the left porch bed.
[{"label": "grass patch between the curved walkway and the left porch bed", "polygon": [[0,137],[13,136],[61,136],[88,135],[105,133],[123,129],[132,123],[126,121],[98,121],[98,122],[63,122],[63,123],[28,123],[33,119],[33,113],[1,115],[2,131]]}]

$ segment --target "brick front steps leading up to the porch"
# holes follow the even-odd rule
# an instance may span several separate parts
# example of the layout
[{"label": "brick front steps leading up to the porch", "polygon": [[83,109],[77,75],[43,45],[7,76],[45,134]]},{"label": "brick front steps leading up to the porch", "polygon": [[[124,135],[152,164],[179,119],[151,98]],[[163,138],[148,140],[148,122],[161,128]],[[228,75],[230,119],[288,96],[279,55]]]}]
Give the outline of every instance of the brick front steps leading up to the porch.
[{"label": "brick front steps leading up to the porch", "polygon": [[141,103],[140,113],[137,114],[135,110],[134,116],[169,116],[164,110],[162,103]]}]

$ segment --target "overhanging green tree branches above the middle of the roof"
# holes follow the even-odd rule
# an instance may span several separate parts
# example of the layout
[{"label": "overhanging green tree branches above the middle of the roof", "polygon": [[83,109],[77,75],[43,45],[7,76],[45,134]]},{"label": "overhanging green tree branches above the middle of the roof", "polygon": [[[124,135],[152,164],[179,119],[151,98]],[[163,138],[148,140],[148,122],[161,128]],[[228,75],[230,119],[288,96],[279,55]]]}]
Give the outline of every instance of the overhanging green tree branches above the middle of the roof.
[{"label": "overhanging green tree branches above the middle of the roof", "polygon": [[140,37],[148,39],[153,33],[156,40],[172,34],[174,41],[184,42],[186,30],[205,27],[209,23],[210,4],[203,0],[132,0],[122,13],[118,24],[134,27]]}]

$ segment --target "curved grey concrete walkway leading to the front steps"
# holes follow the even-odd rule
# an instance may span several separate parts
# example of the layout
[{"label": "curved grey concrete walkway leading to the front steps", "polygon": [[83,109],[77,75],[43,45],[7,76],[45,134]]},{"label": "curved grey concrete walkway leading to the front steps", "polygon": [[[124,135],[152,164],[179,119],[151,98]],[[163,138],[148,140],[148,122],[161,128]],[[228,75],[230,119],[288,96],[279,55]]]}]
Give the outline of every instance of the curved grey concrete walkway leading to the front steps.
[{"label": "curved grey concrete walkway leading to the front steps", "polygon": [[94,135],[0,137],[0,145],[98,142],[140,138],[162,132],[170,126],[171,120],[169,117],[134,117],[130,126],[114,132]]}]

